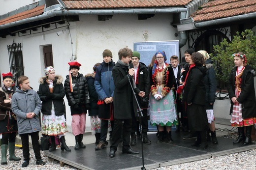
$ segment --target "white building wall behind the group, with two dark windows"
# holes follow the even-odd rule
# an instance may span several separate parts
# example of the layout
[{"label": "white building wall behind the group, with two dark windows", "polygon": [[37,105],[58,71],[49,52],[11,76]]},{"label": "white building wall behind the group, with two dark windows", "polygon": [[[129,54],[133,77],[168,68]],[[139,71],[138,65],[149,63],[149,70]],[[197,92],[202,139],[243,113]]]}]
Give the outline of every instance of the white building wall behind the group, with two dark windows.
[{"label": "white building wall behind the group, with two dark windows", "polygon": [[[179,36],[174,36],[177,29],[170,25],[171,18],[170,14],[156,14],[147,20],[137,20],[137,15],[114,15],[110,20],[97,21],[97,16],[80,16],[80,22],[70,22],[71,34],[58,36],[56,32],[66,29],[59,28],[23,37],[18,37],[17,34],[15,37],[8,35],[6,38],[0,38],[0,72],[9,72],[7,45],[13,41],[22,43],[25,75],[30,78],[34,90],[38,90],[38,79],[44,76],[42,47],[52,45],[55,72],[65,80],[69,69],[67,63],[72,54],[71,35],[73,54],[77,55],[77,61],[82,64],[79,72],[84,75],[92,73],[95,63],[103,61],[104,49],[112,51],[113,61],[116,62],[118,51],[126,46],[133,50],[133,42],[144,41],[143,34],[146,31],[149,35],[148,41],[179,40]],[[72,117],[66,98],[64,99],[67,125],[71,131]],[[87,117],[86,131],[91,131],[90,117]]]}]

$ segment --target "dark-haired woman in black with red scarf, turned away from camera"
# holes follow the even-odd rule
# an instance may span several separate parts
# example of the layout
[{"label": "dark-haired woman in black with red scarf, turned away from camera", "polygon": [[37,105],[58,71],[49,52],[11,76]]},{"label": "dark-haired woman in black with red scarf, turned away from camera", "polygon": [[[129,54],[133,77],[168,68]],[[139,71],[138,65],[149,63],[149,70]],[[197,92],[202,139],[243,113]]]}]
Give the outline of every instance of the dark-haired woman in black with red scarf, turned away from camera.
[{"label": "dark-haired woman in black with red scarf, turned away from camera", "polygon": [[206,131],[208,128],[207,113],[205,110],[205,85],[204,76],[206,68],[203,55],[193,53],[190,60],[190,69],[185,78],[183,103],[187,106],[189,128],[196,133],[197,140],[192,146],[199,146],[199,150],[208,147]]}]

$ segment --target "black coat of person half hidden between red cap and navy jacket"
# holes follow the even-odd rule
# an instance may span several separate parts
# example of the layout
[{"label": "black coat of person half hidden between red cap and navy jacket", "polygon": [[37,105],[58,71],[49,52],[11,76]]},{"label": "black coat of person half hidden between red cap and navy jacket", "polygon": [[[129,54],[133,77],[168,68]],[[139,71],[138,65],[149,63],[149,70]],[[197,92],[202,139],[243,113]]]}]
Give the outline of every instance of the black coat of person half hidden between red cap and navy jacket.
[{"label": "black coat of person half hidden between red cap and navy jacket", "polygon": [[89,94],[90,94],[90,109],[88,110],[89,116],[98,115],[98,94],[96,92],[94,81],[95,81],[95,74],[87,74],[85,75],[88,88],[89,88]]}]

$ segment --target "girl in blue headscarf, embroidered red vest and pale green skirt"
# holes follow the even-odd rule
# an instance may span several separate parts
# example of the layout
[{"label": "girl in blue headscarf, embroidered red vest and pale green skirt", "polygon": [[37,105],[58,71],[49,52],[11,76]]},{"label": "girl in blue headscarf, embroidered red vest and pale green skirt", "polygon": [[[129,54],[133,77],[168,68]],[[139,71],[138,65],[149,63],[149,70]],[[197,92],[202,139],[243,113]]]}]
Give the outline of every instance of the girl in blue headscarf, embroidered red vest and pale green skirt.
[{"label": "girl in blue headscarf, embroidered red vest and pale green skirt", "polygon": [[150,123],[158,126],[157,142],[163,142],[166,126],[167,142],[172,142],[171,126],[178,125],[173,87],[176,84],[172,67],[167,64],[164,51],[156,53],[156,61],[150,68]]}]

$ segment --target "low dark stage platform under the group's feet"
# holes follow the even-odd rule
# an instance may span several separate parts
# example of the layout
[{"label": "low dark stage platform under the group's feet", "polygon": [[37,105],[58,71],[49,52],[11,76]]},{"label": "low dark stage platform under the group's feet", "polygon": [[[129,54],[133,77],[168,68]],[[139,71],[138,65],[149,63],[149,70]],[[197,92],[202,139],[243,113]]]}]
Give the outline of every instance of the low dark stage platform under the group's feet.
[{"label": "low dark stage platform under the group's feet", "polygon": [[[221,132],[219,132],[220,134]],[[226,155],[255,149],[256,144],[243,146],[242,143],[233,145],[233,140],[217,137],[219,144],[209,142],[209,148],[200,151],[195,146],[191,146],[195,139],[183,140],[187,133],[172,133],[173,143],[156,143],[156,134],[150,134],[149,139],[152,144],[143,144],[144,168],[155,169],[168,165],[192,162],[211,157]],[[141,170],[142,152],[141,142],[137,140],[137,145],[131,146],[133,150],[139,151],[138,155],[128,155],[122,153],[122,143],[119,144],[114,158],[108,156],[110,144],[102,150],[95,150],[95,144],[86,144],[85,149],[74,150],[74,146],[69,148],[71,152],[56,149],[53,152],[45,151],[45,155],[62,161],[81,170]]]}]

